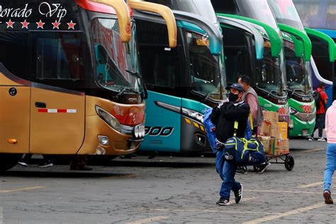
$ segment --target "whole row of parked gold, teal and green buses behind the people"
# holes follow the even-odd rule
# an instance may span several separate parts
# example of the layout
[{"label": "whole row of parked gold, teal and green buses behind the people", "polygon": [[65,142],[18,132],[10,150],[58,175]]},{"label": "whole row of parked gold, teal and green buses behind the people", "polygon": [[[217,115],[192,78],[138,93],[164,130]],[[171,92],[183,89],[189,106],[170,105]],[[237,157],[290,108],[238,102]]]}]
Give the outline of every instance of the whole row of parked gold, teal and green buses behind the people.
[{"label": "whole row of parked gold, teal and green buses behind the people", "polygon": [[[295,1],[336,27],[335,1]],[[0,170],[27,153],[211,152],[203,113],[243,74],[308,136],[336,56],[335,32],[311,28],[291,0],[3,0]]]}]

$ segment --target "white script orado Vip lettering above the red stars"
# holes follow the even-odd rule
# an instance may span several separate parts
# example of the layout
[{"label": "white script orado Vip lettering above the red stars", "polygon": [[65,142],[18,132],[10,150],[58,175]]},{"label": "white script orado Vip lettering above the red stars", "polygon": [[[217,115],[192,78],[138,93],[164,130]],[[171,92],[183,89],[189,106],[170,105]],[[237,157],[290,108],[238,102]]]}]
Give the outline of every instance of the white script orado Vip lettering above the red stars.
[{"label": "white script orado Vip lettering above the red stars", "polygon": [[[62,18],[65,18],[67,15],[67,9],[65,9],[61,4],[49,4],[46,1],[43,1],[38,6],[38,11],[41,16],[45,16],[46,18],[55,17],[58,18],[58,22],[61,21]],[[28,18],[33,13],[33,9],[28,8],[28,4],[21,8],[4,8],[0,5],[0,17],[10,17],[10,18]]]}]

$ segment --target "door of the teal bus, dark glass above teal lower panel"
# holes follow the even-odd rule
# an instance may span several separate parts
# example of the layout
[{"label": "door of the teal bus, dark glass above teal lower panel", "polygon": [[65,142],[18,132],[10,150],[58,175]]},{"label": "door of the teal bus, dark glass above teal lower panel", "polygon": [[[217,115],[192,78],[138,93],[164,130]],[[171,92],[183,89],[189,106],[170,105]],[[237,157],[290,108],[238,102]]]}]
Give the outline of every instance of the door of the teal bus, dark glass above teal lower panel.
[{"label": "door of the teal bus, dark glass above teal lower panel", "polygon": [[140,65],[148,89],[145,139],[140,150],[179,152],[181,131],[181,40],[170,48],[167,26],[161,18],[134,12],[139,41]]}]

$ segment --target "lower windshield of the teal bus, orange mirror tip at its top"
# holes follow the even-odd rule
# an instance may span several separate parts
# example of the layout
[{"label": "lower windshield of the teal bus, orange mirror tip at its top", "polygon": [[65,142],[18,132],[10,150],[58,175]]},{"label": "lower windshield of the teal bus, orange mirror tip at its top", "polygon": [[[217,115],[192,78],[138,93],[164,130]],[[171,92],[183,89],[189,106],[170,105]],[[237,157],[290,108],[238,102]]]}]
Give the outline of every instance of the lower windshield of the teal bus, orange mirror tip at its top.
[{"label": "lower windshield of the teal bus, orange mirror tip at its top", "polygon": [[211,55],[208,39],[186,31],[192,89],[212,99],[221,99],[220,57]]}]

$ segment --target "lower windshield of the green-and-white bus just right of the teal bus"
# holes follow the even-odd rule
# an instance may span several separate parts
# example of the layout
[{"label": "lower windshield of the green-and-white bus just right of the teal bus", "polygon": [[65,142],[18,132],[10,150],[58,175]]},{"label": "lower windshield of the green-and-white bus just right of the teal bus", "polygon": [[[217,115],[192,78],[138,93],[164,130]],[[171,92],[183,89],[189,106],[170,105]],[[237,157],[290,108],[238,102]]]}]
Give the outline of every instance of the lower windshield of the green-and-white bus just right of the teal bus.
[{"label": "lower windshield of the green-and-white bus just right of the teal bus", "polygon": [[271,56],[271,47],[267,47],[270,46],[268,40],[265,40],[264,45],[264,57],[259,67],[261,72],[256,77],[256,86],[275,96],[285,96],[281,57]]}]

